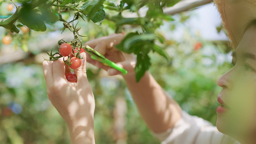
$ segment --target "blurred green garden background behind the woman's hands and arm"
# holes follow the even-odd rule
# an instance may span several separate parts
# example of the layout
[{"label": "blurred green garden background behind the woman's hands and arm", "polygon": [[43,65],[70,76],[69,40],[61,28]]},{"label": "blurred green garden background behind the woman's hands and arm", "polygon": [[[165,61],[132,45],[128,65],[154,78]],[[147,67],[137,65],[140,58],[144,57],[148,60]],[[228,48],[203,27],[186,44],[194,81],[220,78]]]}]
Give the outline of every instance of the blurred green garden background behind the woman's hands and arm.
[{"label": "blurred green garden background behind the woman's hands and arm", "polygon": [[[168,37],[195,13],[182,12],[176,17],[175,23],[159,29],[165,32],[162,47],[171,60],[151,53],[149,71],[183,110],[215,125],[221,90],[217,80],[231,68],[231,48],[227,40],[209,40],[193,33],[189,24],[178,31],[179,39]],[[46,32],[20,33],[12,36],[10,45],[0,43],[0,144],[70,144],[67,126],[48,100],[41,65],[43,56],[47,58],[45,52],[72,34],[61,34],[62,23],[47,26]],[[79,26],[87,36],[83,41],[107,36],[115,29],[107,20],[102,26],[85,22]],[[0,27],[0,39],[8,34]],[[159,144],[141,119],[122,77],[109,77],[90,64],[87,74],[96,99],[96,144]]]}]

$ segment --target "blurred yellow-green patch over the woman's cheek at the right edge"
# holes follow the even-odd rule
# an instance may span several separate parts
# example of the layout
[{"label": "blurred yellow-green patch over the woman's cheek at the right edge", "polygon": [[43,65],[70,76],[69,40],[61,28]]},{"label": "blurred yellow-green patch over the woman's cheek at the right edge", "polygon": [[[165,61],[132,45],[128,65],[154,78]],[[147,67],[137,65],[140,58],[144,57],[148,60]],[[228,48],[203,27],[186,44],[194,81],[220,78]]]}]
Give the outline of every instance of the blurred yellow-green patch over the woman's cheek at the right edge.
[{"label": "blurred yellow-green patch over the woman's cheek at the right edge", "polygon": [[234,85],[229,97],[229,121],[241,132],[256,129],[256,79],[244,79]]}]

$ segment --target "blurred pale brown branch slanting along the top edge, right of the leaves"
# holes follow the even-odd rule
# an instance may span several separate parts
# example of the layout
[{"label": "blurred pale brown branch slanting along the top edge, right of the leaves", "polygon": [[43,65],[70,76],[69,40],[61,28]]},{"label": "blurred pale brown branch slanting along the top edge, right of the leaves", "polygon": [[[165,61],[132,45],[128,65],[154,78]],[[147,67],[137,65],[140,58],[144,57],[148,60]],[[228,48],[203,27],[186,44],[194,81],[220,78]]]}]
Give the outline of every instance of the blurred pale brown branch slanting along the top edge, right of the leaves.
[{"label": "blurred pale brown branch slanting along the top edge, right of the leaves", "polygon": [[211,2],[213,2],[213,0],[182,0],[178,2],[176,5],[174,5],[173,7],[164,9],[164,13],[173,15],[176,13],[185,12],[190,9],[194,9],[196,7],[199,7]]}]

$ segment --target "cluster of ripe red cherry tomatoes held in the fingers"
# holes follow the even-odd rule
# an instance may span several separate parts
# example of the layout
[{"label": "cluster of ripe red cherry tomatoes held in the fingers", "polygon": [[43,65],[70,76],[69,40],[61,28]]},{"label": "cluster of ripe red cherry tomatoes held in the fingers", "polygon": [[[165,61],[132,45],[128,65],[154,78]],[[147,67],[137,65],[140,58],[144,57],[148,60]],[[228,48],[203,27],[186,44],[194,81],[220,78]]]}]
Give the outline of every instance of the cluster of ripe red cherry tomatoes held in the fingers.
[{"label": "cluster of ripe red cherry tomatoes held in the fingers", "polygon": [[63,60],[65,62],[65,76],[66,79],[71,83],[77,82],[77,76],[71,72],[70,69],[77,69],[81,66],[83,57],[81,57],[81,53],[85,52],[85,49],[80,47],[77,48],[76,44],[71,42],[67,43],[64,40],[59,41],[59,49],[58,52],[49,55],[49,60],[59,60],[64,57]]}]

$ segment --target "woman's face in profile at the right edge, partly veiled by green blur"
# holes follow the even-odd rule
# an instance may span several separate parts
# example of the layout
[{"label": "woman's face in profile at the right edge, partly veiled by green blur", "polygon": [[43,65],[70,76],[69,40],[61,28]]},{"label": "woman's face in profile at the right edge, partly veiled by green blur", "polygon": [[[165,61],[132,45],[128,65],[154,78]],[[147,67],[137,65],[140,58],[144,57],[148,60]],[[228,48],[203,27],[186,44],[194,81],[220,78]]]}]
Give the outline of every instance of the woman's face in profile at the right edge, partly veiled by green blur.
[{"label": "woman's face in profile at the right edge, partly veiled by green blur", "polygon": [[246,30],[232,56],[234,67],[218,81],[222,91],[216,125],[220,132],[250,144],[256,142],[256,26]]}]

